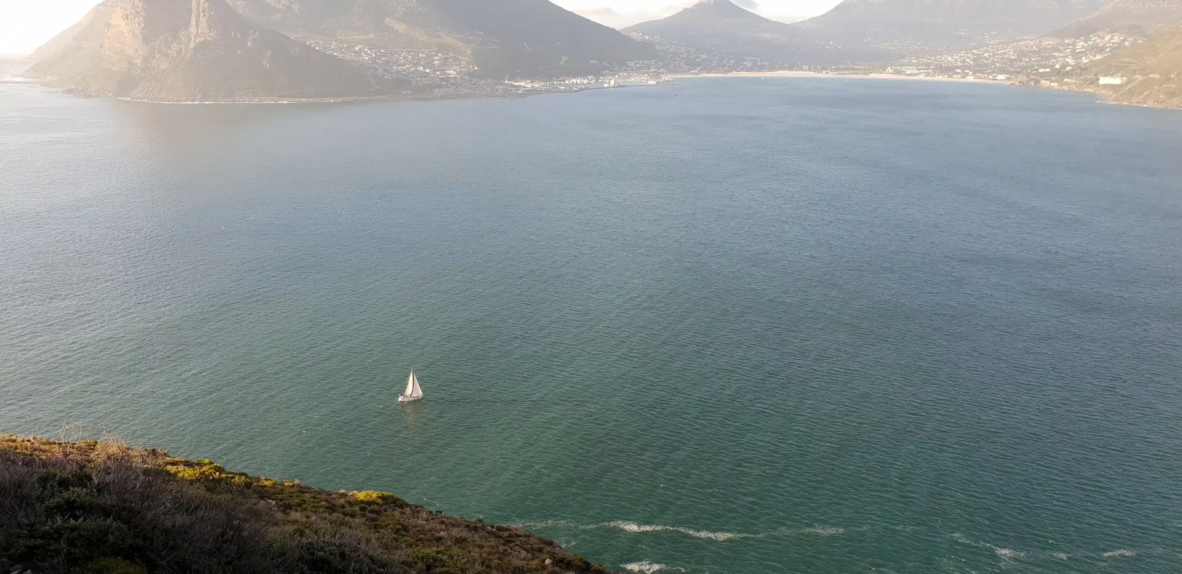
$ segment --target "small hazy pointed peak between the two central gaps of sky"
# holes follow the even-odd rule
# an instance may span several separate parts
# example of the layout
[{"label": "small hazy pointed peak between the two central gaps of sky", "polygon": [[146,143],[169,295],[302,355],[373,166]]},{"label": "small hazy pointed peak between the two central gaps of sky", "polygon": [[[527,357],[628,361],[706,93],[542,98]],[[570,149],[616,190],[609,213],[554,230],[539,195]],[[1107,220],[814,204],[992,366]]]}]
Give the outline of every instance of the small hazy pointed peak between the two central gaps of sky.
[{"label": "small hazy pointed peak between the two central gaps of sky", "polygon": [[623,32],[662,38],[695,50],[797,60],[812,43],[791,24],[768,20],[729,0],[702,0],[671,17],[641,22]]}]

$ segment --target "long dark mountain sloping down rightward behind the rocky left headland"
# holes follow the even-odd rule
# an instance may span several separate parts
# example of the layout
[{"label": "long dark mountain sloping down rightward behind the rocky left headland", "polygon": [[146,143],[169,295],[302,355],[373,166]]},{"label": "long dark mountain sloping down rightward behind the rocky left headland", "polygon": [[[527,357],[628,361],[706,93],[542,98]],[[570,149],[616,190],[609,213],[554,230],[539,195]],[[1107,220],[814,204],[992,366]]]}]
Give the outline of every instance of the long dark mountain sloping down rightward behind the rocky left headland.
[{"label": "long dark mountain sloping down rightward behind the rocky left headland", "polygon": [[577,76],[656,50],[547,0],[232,0],[294,37],[468,58],[481,76]]}]

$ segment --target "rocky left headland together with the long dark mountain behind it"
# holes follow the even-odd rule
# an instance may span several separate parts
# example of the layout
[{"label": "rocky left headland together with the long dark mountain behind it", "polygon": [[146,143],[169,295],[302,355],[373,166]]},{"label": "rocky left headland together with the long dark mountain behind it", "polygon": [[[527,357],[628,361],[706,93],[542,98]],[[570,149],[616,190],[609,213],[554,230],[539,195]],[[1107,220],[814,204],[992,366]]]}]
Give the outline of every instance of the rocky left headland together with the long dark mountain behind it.
[{"label": "rocky left headland together with the long dark mountain behind it", "polygon": [[77,93],[169,102],[413,93],[414,81],[316,40],[449,56],[496,79],[603,73],[656,56],[545,0],[106,0],[38,50],[27,73]]}]

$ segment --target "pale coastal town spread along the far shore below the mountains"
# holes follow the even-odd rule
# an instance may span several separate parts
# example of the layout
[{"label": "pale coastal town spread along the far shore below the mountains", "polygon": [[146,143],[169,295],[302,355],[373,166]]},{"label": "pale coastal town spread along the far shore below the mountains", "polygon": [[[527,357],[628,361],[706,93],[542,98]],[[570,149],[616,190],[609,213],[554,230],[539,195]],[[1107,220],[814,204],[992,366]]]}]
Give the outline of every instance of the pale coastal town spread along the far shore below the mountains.
[{"label": "pale coastal town spread along the far shore below the mountains", "polygon": [[[590,89],[657,85],[677,76],[767,73],[790,71],[816,74],[884,74],[917,79],[956,79],[1070,87],[1079,70],[1090,61],[1142,41],[1122,34],[1092,34],[1077,39],[1026,38],[1017,41],[1000,37],[982,40],[986,45],[961,51],[924,51],[881,64],[785,65],[764,58],[725,51],[696,50],[661,38],[632,34],[657,48],[657,59],[626,61],[598,76],[560,78],[481,77],[479,67],[460,56],[426,50],[392,50],[346,44],[336,40],[300,39],[338,58],[361,65],[388,78],[405,80],[407,96],[424,98],[511,97],[539,93],[570,93]],[[1102,83],[1119,83],[1103,78]]]}]

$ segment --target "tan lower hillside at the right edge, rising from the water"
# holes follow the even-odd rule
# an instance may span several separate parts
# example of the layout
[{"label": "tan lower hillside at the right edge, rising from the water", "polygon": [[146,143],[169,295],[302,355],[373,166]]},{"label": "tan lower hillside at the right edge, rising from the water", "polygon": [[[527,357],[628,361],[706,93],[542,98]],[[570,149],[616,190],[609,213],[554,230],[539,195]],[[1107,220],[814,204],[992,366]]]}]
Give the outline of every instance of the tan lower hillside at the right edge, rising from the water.
[{"label": "tan lower hillside at the right edge, rising from the water", "polygon": [[[1182,25],[1089,64],[1080,80],[1109,102],[1182,107]],[[1121,78],[1100,85],[1099,78]]]}]

